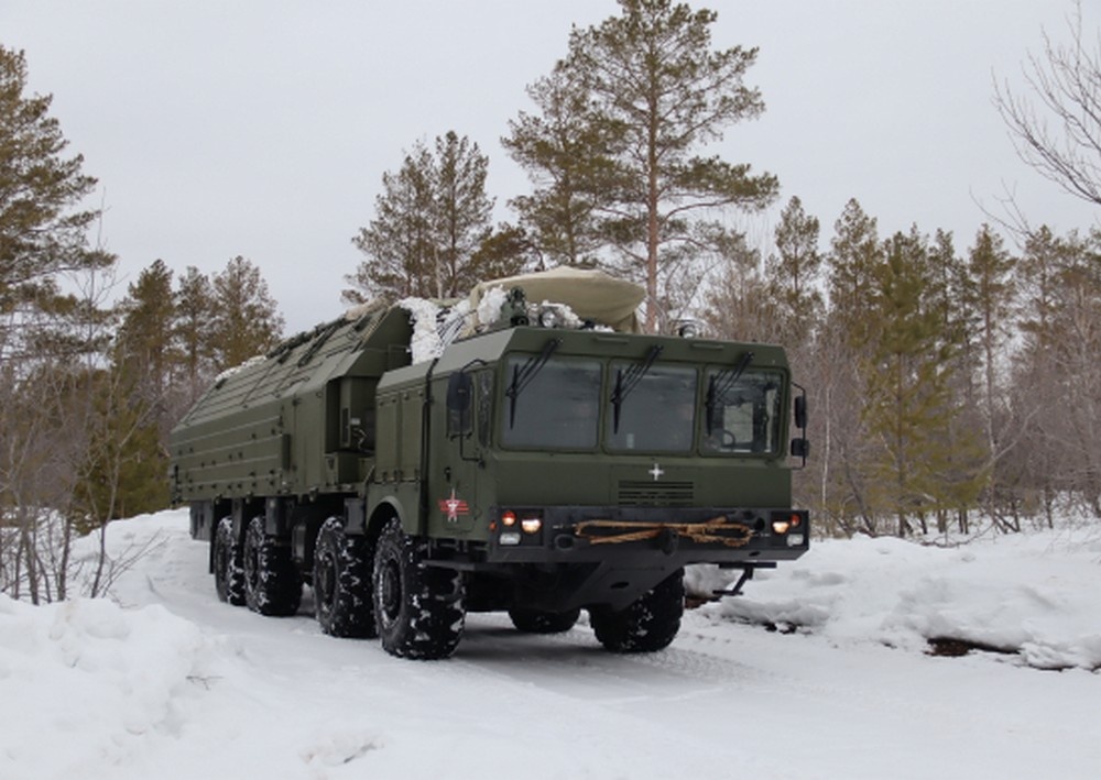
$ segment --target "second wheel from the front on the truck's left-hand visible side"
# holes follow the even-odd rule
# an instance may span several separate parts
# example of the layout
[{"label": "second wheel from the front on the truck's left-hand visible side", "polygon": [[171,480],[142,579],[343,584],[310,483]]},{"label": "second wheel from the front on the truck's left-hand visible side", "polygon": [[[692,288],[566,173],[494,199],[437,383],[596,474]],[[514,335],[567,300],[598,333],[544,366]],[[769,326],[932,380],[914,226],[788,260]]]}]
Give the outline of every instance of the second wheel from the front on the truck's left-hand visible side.
[{"label": "second wheel from the front on the truck's left-hand visible side", "polygon": [[371,548],[361,536],[348,536],[337,517],[325,520],[314,547],[314,615],[335,637],[373,637]]}]

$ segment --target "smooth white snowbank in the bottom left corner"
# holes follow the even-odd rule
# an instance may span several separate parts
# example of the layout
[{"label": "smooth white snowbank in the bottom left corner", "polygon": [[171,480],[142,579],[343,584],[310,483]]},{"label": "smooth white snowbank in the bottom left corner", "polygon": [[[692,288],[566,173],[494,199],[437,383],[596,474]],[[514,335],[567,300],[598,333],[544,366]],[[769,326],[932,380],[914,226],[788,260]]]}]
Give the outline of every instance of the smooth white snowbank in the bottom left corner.
[{"label": "smooth white snowbank in the bottom left corner", "polygon": [[175,734],[203,646],[157,605],[34,607],[0,594],[0,777],[81,777]]}]

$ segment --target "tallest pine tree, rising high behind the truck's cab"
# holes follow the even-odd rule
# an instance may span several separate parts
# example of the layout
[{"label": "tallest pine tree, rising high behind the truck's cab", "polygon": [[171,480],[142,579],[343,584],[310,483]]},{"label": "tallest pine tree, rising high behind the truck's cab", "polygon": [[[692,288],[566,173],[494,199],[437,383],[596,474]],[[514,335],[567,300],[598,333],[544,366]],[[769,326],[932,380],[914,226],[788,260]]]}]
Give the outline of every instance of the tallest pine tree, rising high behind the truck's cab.
[{"label": "tallest pine tree, rising high behind the truck's cab", "polygon": [[[563,162],[554,149],[560,142],[549,132],[556,129],[552,116],[545,122],[550,149],[528,167],[555,180],[585,172],[581,191],[596,197],[592,230],[617,252],[608,262],[645,284],[646,329],[653,332],[667,325],[669,305],[684,295],[678,272],[695,271],[687,260],[719,234],[704,218],[731,207],[764,208],[778,185],[767,174],[751,176],[749,165],[698,154],[729,124],[764,110],[760,94],[743,85],[756,50],[713,50],[713,11],[672,0],[620,0],[620,17],[573,31],[569,54],[552,77],[577,90],[566,105],[578,108],[574,114],[586,128],[580,151],[591,156]],[[516,134],[522,124],[514,123],[517,149],[532,145]],[[536,198],[554,200],[549,194]],[[559,197],[559,213],[574,204]],[[587,219],[584,200],[580,206]]]}]

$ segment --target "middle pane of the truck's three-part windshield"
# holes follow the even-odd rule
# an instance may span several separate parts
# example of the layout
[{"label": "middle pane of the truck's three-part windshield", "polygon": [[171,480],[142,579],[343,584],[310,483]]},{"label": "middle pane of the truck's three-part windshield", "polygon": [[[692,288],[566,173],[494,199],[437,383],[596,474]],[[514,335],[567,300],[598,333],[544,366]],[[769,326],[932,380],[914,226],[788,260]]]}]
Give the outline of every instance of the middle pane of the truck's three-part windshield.
[{"label": "middle pane of the truck's three-part windshield", "polygon": [[[631,367],[628,362],[613,362],[610,376],[614,380]],[[613,399],[606,414],[606,444],[610,450],[688,452],[696,420],[696,370],[654,365],[619,409]],[[617,417],[618,425],[613,425]]]}]

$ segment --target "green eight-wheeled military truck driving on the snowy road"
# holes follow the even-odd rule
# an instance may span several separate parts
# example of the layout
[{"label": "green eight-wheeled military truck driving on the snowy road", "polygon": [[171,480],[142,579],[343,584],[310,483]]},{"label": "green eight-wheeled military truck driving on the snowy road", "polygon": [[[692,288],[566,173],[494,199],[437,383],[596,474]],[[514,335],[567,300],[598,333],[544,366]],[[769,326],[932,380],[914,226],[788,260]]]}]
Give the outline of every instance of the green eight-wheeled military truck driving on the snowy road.
[{"label": "green eight-wheeled military truck driving on the snowy road", "polygon": [[586,609],[609,650],[653,651],[685,565],[741,570],[737,593],[802,556],[783,350],[643,334],[641,299],[528,274],[367,306],[218,377],[171,439],[218,596],[292,615],[307,584],[325,633],[407,658],[451,655],[470,611],[555,633]]}]

